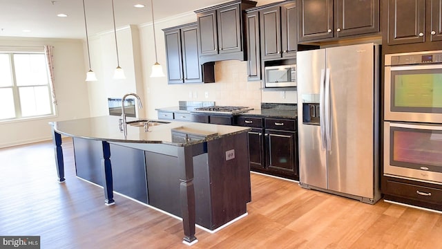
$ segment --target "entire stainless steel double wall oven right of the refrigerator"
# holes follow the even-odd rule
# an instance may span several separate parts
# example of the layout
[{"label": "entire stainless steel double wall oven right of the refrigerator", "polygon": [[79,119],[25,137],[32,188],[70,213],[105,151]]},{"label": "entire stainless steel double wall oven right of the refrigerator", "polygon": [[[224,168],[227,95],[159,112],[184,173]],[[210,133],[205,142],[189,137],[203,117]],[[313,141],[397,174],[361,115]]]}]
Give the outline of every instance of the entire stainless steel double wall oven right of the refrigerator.
[{"label": "entire stainless steel double wall oven right of the refrigerator", "polygon": [[442,185],[442,50],[385,55],[384,175]]}]

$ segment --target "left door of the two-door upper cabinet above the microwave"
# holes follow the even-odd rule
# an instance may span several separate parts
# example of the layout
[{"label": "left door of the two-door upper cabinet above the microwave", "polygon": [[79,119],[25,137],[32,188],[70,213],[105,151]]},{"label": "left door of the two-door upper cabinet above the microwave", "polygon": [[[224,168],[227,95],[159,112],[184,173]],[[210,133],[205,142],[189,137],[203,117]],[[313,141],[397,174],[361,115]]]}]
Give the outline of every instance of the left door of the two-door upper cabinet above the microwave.
[{"label": "left door of the two-door upper cabinet above the microwave", "polygon": [[280,7],[275,6],[260,11],[261,57],[278,59],[281,57]]}]

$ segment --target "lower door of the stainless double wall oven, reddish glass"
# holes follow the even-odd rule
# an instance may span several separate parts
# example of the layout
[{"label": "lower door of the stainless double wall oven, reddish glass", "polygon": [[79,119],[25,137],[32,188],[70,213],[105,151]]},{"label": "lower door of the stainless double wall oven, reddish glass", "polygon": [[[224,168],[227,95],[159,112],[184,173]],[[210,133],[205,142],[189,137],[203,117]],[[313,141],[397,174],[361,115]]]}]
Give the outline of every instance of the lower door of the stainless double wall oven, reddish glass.
[{"label": "lower door of the stainless double wall oven, reddish glass", "polygon": [[442,124],[384,122],[384,175],[442,183]]}]

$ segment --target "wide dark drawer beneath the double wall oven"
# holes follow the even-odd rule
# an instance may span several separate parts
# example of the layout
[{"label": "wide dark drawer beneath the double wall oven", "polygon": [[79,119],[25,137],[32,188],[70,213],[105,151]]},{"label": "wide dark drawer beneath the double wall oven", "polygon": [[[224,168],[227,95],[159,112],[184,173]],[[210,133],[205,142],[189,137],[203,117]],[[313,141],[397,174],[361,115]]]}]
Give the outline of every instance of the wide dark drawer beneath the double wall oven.
[{"label": "wide dark drawer beneath the double wall oven", "polygon": [[409,183],[399,183],[387,180],[385,184],[385,194],[401,196],[416,201],[442,204],[442,190],[434,187],[423,187]]}]

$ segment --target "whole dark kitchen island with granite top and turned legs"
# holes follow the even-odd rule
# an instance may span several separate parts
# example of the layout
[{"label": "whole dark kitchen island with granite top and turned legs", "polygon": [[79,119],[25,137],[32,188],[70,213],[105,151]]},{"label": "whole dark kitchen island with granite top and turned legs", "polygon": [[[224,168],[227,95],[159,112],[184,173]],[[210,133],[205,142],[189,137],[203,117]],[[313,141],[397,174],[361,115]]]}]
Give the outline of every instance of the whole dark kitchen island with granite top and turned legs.
[{"label": "whole dark kitchen island with granite top and turned legs", "polygon": [[[51,122],[59,182],[64,182],[61,135],[73,137],[77,176],[164,210],[183,221],[184,243],[195,223],[214,231],[247,214],[251,201],[245,127],[128,120],[103,116]],[[112,155],[112,157],[111,157]]]}]

